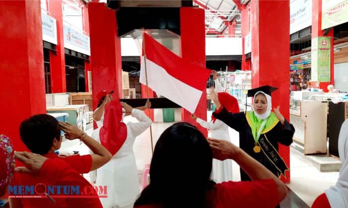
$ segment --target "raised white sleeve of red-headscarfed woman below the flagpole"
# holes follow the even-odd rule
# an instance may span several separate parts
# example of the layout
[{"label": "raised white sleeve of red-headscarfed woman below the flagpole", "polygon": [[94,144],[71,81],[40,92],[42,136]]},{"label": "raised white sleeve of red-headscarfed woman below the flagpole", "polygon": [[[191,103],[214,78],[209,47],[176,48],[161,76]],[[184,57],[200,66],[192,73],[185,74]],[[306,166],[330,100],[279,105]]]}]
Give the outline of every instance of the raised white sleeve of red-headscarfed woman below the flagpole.
[{"label": "raised white sleeve of red-headscarfed woman below the flagpole", "polygon": [[142,110],[133,108],[132,116],[135,117],[137,120],[139,120],[139,122],[137,123],[133,123],[133,122],[127,123],[127,126],[131,130],[131,133],[134,137],[142,134],[152,124],[152,120],[148,116],[146,116],[146,114]]}]

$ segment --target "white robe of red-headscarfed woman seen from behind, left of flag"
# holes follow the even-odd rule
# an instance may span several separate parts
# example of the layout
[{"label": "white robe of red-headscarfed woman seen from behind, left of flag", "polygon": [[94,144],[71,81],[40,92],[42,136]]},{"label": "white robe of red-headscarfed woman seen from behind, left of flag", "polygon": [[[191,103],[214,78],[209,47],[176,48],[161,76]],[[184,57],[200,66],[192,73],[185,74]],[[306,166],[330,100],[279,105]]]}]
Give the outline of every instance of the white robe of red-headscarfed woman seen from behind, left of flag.
[{"label": "white robe of red-headscarfed woman seen from behind, left of flag", "polygon": [[[134,108],[132,116],[140,122],[126,124],[126,141],[112,159],[96,171],[95,185],[107,186],[107,198],[100,198],[103,208],[132,205],[140,193],[133,144],[135,138],[150,127],[152,120],[142,110]],[[100,127],[95,129],[91,136],[98,142]],[[93,181],[95,174],[90,175]]]}]

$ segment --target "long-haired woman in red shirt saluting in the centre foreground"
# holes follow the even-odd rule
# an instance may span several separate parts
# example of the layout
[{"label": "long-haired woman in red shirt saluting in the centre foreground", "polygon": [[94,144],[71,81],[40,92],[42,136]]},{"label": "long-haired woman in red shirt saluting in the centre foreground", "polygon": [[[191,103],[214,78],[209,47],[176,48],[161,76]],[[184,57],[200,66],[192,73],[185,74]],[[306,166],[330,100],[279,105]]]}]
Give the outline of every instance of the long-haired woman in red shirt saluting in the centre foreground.
[{"label": "long-haired woman in red shirt saluting in the centre foreground", "polygon": [[[209,142],[209,143],[208,143]],[[210,180],[213,157],[233,159],[253,180]],[[186,122],[175,123],[160,136],[151,161],[150,184],[135,208],[274,208],[286,186],[231,142],[209,139]]]}]

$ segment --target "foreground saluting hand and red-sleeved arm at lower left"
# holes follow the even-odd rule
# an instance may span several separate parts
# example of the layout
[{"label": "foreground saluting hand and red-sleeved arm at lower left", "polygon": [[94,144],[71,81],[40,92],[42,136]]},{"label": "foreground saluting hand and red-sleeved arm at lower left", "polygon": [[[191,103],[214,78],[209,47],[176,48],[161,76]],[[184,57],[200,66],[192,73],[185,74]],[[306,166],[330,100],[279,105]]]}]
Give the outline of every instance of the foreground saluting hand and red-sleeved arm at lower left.
[{"label": "foreground saluting hand and red-sleeved arm at lower left", "polygon": [[[90,187],[89,182],[64,160],[59,158],[48,159],[39,154],[28,152],[15,152],[14,156],[25,165],[25,167],[16,167],[14,169],[16,173],[30,174],[55,186],[70,186],[74,184],[75,186],[79,186],[81,190],[84,190],[84,187]],[[65,204],[60,206],[61,208],[102,208],[100,200],[95,193],[90,193],[88,196],[89,198],[87,199],[67,198]],[[37,205],[34,207],[41,206]],[[49,207],[54,206],[51,205]]]}]

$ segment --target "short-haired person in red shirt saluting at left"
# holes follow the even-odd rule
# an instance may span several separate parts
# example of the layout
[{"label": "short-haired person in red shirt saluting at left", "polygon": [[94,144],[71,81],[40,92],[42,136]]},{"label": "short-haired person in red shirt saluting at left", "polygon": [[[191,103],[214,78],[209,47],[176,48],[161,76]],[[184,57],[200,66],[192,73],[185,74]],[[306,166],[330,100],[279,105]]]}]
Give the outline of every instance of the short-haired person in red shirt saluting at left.
[{"label": "short-haired person in red shirt saluting at left", "polygon": [[[94,154],[91,155],[73,155],[70,157],[59,157],[55,150],[60,149],[62,143],[61,129],[66,133],[65,137],[69,140],[80,139]],[[81,129],[69,123],[62,123],[51,115],[38,114],[24,120],[19,127],[20,137],[28,149],[36,154],[43,155],[50,159],[64,160],[79,174],[88,173],[107,163],[112,155],[101,144],[89,137]],[[17,166],[22,166],[20,163]],[[40,177],[15,173],[11,181],[11,187],[14,186],[36,186],[37,184],[46,186],[54,185],[52,180],[44,180]],[[75,184],[70,184],[75,186]],[[66,198],[59,198],[56,203],[49,198],[10,198],[11,207],[64,207]]]}]

